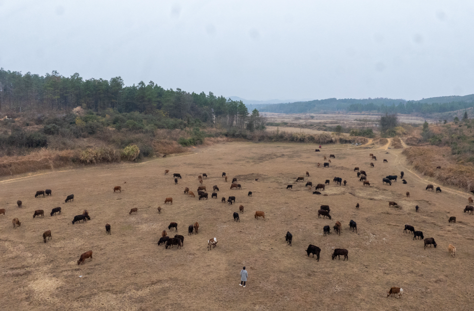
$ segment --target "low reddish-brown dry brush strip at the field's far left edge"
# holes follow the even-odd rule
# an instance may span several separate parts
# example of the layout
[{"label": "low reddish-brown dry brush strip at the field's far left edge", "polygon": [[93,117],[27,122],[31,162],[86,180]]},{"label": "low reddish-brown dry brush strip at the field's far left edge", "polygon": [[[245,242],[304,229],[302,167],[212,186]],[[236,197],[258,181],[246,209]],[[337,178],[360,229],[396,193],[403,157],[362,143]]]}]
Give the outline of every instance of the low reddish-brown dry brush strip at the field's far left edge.
[{"label": "low reddish-brown dry brush strip at the field's far left edge", "polygon": [[25,156],[1,157],[0,176],[68,166],[72,164],[73,157],[72,150],[56,151],[46,148]]}]

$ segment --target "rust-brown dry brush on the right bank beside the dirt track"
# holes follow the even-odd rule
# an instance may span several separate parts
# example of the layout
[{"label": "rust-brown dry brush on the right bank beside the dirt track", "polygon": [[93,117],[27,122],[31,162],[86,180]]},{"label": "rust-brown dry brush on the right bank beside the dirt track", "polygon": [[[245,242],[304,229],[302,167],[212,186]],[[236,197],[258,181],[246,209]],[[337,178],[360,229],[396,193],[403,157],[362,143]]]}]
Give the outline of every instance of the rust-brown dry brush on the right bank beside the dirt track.
[{"label": "rust-brown dry brush on the right bank beside the dirt track", "polygon": [[[474,166],[456,164],[450,147],[410,147],[403,150],[402,154],[424,175],[437,178],[446,185],[474,189]],[[441,166],[441,169],[437,169],[437,166]]]}]

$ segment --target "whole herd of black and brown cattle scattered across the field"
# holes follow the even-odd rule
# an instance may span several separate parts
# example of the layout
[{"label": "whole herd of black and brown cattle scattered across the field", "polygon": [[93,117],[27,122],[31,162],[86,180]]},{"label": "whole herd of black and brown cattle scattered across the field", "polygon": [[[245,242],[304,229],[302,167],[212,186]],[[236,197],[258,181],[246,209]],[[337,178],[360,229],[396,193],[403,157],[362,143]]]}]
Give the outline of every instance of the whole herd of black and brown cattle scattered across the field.
[{"label": "whole herd of black and brown cattle scattered across the field", "polygon": [[[319,149],[316,149],[316,151],[319,151]],[[376,156],[374,156],[373,154],[370,154],[370,157],[373,160],[377,160]],[[326,157],[324,157],[324,158],[326,160]],[[331,155],[329,155],[329,158],[335,159],[335,155],[331,154]],[[335,161],[335,162],[337,162],[337,161]],[[383,162],[387,163],[388,161],[386,159],[383,159]],[[373,167],[374,164],[370,163],[370,166]],[[329,164],[324,163],[324,167],[329,167]],[[370,183],[369,183],[368,180],[366,180],[367,174],[365,173],[365,171],[360,170],[359,167],[355,167],[353,171],[354,172],[357,171],[358,172],[357,176],[358,177],[360,176],[360,181],[364,181],[363,182],[363,187],[367,186],[367,187],[370,188]],[[168,173],[169,173],[169,170],[165,170],[164,175],[167,175]],[[354,174],[354,173],[351,173],[351,174]],[[404,173],[401,172],[401,178],[403,178],[403,176],[404,176]],[[222,177],[225,178],[225,181],[227,181],[226,173],[222,173]],[[308,171],[306,171],[306,177],[310,177],[310,173]],[[182,179],[181,174],[174,173],[173,174],[173,179],[175,181],[175,184],[178,183],[178,178]],[[199,180],[200,184],[202,184],[202,178],[207,178],[207,174],[202,174],[202,176],[201,175],[199,176],[198,180]],[[392,185],[392,180],[394,180],[396,182],[397,178],[398,178],[397,175],[388,175],[388,176],[386,176],[385,178],[382,179],[383,184]],[[258,180],[258,179],[255,179],[255,180]],[[298,182],[300,180],[304,181],[305,178],[304,177],[297,177],[296,180],[294,180],[294,182]],[[336,186],[337,185],[341,186],[342,182],[343,182],[343,179],[340,178],[340,177],[334,177],[333,182],[335,182]],[[406,184],[406,183],[407,183],[406,180],[403,180],[403,184]],[[320,195],[321,193],[317,190],[324,191],[325,186],[329,185],[329,184],[330,184],[330,180],[325,180],[324,184],[323,183],[317,183],[317,185],[315,187],[316,191],[314,191],[313,194]],[[313,185],[313,182],[308,180],[306,182],[305,187],[309,187],[309,189],[311,190],[312,185]],[[346,180],[344,180],[344,185],[346,186]],[[245,184],[244,184],[244,186],[245,186]],[[292,184],[288,184],[287,187],[286,187],[286,189],[292,189],[292,188],[293,188]],[[237,184],[237,178],[232,179],[232,184],[230,185],[230,190],[233,190],[233,189],[236,189],[236,190],[242,189],[241,184]],[[428,184],[427,187],[426,187],[426,190],[431,190],[433,192],[434,191],[434,186],[432,184]],[[218,185],[213,186],[213,191],[219,191]],[[122,187],[121,186],[115,186],[113,188],[113,192],[114,193],[115,192],[122,193]],[[441,188],[440,187],[436,187],[436,193],[438,193],[438,192],[441,193]],[[238,191],[236,191],[235,193],[238,193]],[[187,188],[187,187],[184,189],[184,194],[194,197],[194,193],[189,191],[189,188]],[[46,196],[52,196],[52,191],[49,190],[49,189],[47,189],[46,191],[43,191],[43,190],[36,191],[35,197],[39,197],[39,196],[45,197],[45,195]],[[208,194],[206,192],[206,186],[199,186],[198,187],[198,195],[199,195],[199,200],[201,200],[201,198],[206,198],[207,199]],[[405,195],[406,195],[407,198],[410,197],[409,192],[406,192]],[[252,191],[248,192],[248,196],[252,196]],[[213,192],[211,198],[216,198],[217,199],[217,193]],[[65,203],[73,202],[73,199],[74,199],[74,195],[69,195],[69,196],[67,196],[67,198],[65,200]],[[236,202],[236,196],[229,196],[227,200],[226,200],[225,197],[222,197],[221,202],[225,203],[226,201],[228,202],[229,205],[232,205],[233,202],[234,203]],[[472,197],[469,197],[468,201],[469,201],[469,203],[473,203]],[[173,198],[172,197],[166,197],[165,201],[164,201],[164,204],[167,204],[167,203],[173,204]],[[22,202],[20,200],[18,200],[17,205],[18,205],[18,208],[21,208],[22,207]],[[391,207],[391,206],[398,207],[398,204],[394,201],[389,201],[388,205],[389,205],[389,207]],[[172,208],[172,207],[170,207],[170,208]],[[357,203],[356,209],[359,209],[359,203]],[[158,213],[161,213],[161,210],[162,210],[161,207],[158,207]],[[239,212],[243,213],[243,211],[244,211],[244,207],[242,205],[240,205],[239,206]],[[416,206],[416,211],[418,212],[418,205]],[[321,216],[323,216],[322,217],[323,219],[328,218],[329,220],[331,220],[332,217],[330,215],[330,212],[331,212],[331,210],[330,210],[328,205],[321,205],[320,209],[317,211],[318,218],[321,218]],[[467,205],[464,209],[464,213],[465,212],[473,214],[474,213],[474,207],[470,206],[470,205]],[[51,211],[51,216],[56,215],[56,213],[59,213],[59,214],[61,213],[61,207],[53,208],[52,211]],[[138,208],[131,208],[129,214],[132,214],[132,213],[138,213]],[[1,209],[0,214],[5,215],[5,209]],[[44,217],[44,211],[43,210],[36,210],[34,212],[33,218],[35,218],[36,216]],[[255,217],[255,219],[258,219],[258,217],[262,217],[263,220],[265,220],[265,212],[256,211],[254,217]],[[233,213],[233,218],[234,218],[234,222],[236,222],[236,223],[239,222],[240,223],[239,213],[234,212]],[[86,220],[91,220],[91,217],[89,216],[89,213],[88,213],[87,210],[85,210],[83,212],[83,214],[74,216],[72,224],[74,224],[75,222],[80,222],[81,220],[82,220],[83,223]],[[38,220],[38,221],[41,221],[41,220]],[[323,220],[321,220],[321,221],[323,221]],[[324,221],[327,221],[327,220],[324,220]],[[18,218],[14,218],[12,222],[13,222],[13,228],[20,227],[20,225],[21,225]],[[456,217],[455,216],[449,217],[449,223],[456,223]],[[237,226],[237,224],[235,224],[235,225]],[[349,231],[352,231],[355,234],[358,234],[357,224],[354,220],[351,219],[348,225],[349,225]],[[105,227],[106,227],[106,234],[111,234],[110,233],[110,225],[106,224]],[[171,222],[169,224],[168,230],[172,231],[173,229],[175,229],[176,233],[178,233],[178,223]],[[188,235],[198,234],[198,229],[199,229],[198,222],[196,222],[195,224],[189,225],[188,226]],[[333,229],[336,232],[336,234],[341,235],[341,231],[342,231],[341,222],[336,221],[335,225],[333,226]],[[426,249],[426,246],[430,246],[430,247],[434,246],[434,248],[436,248],[437,245],[438,245],[435,242],[435,239],[433,237],[424,238],[423,232],[422,231],[416,231],[413,226],[404,225],[403,232],[404,233],[412,233],[413,234],[413,240],[415,240],[415,239],[423,240],[424,241],[424,249]],[[329,225],[324,226],[323,236],[325,236],[325,237],[326,236],[332,236],[332,235],[330,235],[330,226]],[[287,242],[287,244],[289,246],[292,246],[292,237],[293,237],[292,233],[287,231],[287,233],[285,235],[285,241]],[[298,237],[296,236],[296,243],[298,241],[297,238]],[[47,230],[43,233],[43,241],[44,241],[44,243],[47,243],[47,240],[50,240],[50,239],[52,239],[51,230]],[[53,243],[53,242],[50,242],[50,243]],[[208,239],[208,241],[207,241],[208,251],[215,248],[217,246],[217,243],[218,243],[218,241],[217,241],[216,237]],[[158,241],[158,246],[160,246],[161,244],[164,244],[165,249],[168,249],[168,246],[169,246],[169,248],[172,248],[175,245],[177,246],[177,249],[182,248],[182,246],[184,244],[184,236],[176,234],[174,237],[171,238],[171,237],[167,236],[167,232],[164,230],[162,232],[162,237]],[[318,246],[314,246],[314,245],[310,244],[307,247],[306,252],[307,252],[308,257],[310,256],[310,254],[312,254],[313,258],[314,258],[314,255],[316,255],[317,262],[319,262],[321,249]],[[450,244],[448,246],[448,253],[451,254],[454,257],[456,255],[456,247]],[[348,250],[345,249],[345,248],[335,248],[332,255],[331,255],[331,258],[332,258],[332,260],[334,260],[336,257],[338,257],[338,259],[340,260],[341,256],[343,256],[343,261],[346,261],[346,260],[348,261]],[[77,258],[77,257],[75,257],[75,258]],[[90,258],[92,260],[92,251],[91,250],[83,253],[80,256],[79,260],[77,261],[77,264],[78,265],[79,264],[84,264],[85,260],[88,259],[88,258]],[[403,293],[403,289],[401,289],[399,287],[392,287],[389,290],[389,292],[387,292],[387,297],[393,294],[393,295],[397,296],[398,298],[400,298],[402,293]]]}]

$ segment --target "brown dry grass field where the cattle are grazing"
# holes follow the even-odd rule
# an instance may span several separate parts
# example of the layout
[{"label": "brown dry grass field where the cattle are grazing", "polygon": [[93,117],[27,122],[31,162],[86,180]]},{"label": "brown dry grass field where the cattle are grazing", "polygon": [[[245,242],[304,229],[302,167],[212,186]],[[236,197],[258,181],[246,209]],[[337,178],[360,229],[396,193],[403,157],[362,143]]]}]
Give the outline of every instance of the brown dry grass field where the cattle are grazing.
[{"label": "brown dry grass field where the cattle are grazing", "polygon": [[[141,164],[3,179],[2,309],[473,310],[474,215],[463,213],[470,195],[442,186],[442,193],[426,191],[427,183],[436,187],[436,182],[411,172],[402,149],[387,147],[331,145],[314,152],[309,144],[226,143]],[[369,153],[378,158],[374,168]],[[317,168],[329,154],[336,156],[330,167]],[[354,166],[367,172],[370,187],[358,181]],[[164,176],[165,169],[170,175]],[[400,171],[407,184],[382,184],[383,177]],[[242,190],[230,190],[222,172],[237,177]],[[172,173],[182,175],[178,185]],[[183,194],[184,187],[197,193],[202,173],[209,176],[204,180],[209,196],[209,188],[219,186],[218,199],[200,201]],[[327,196],[313,195],[305,182],[295,182],[298,176],[313,184],[330,179],[322,192]],[[347,185],[335,185],[335,176]],[[293,189],[287,190],[287,184]],[[122,186],[122,193],[113,193],[114,186]],[[44,189],[52,189],[53,196],[34,197]],[[74,201],[64,203],[70,194]],[[172,205],[164,204],[168,196]],[[236,204],[221,203],[222,196],[236,196]],[[23,201],[21,209],[17,200]],[[388,201],[401,208],[389,208]],[[332,220],[318,218],[322,204],[330,206]],[[244,213],[236,223],[232,214],[239,205]],[[58,206],[62,213],[51,217]],[[130,215],[134,207],[138,213]],[[37,209],[45,211],[44,218],[33,219]],[[91,220],[72,225],[73,216],[84,209]],[[255,219],[255,211],[264,211],[265,221]],[[448,223],[450,216],[457,222]],[[21,226],[13,229],[15,217]],[[358,233],[349,231],[351,219]],[[199,234],[188,236],[187,227],[196,221]],[[336,221],[343,225],[340,236],[332,230]],[[177,222],[184,236],[182,249],[157,246],[162,230],[174,236],[167,229],[170,222]],[[423,231],[425,238],[434,237],[438,247],[423,249],[423,241],[402,232],[405,224]],[[329,236],[323,236],[325,225],[331,227]],[[48,229],[53,239],[45,244],[42,233]],[[287,231],[292,246],[285,243]],[[213,237],[218,245],[208,251],[207,240]],[[306,255],[309,244],[321,248],[319,262]],[[448,254],[449,244],[457,248],[455,258]],[[349,260],[331,260],[334,248],[348,249]],[[93,259],[77,265],[88,250]],[[238,286],[244,265],[246,288]],[[400,299],[386,297],[392,286],[403,288]]]}]

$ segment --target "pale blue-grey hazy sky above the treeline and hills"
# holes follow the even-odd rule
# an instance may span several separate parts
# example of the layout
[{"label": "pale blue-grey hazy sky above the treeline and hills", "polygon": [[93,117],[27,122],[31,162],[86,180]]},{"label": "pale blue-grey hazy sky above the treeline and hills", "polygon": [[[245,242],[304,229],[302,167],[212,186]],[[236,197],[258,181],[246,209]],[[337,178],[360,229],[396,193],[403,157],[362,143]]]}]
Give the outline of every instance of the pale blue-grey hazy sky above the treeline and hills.
[{"label": "pale blue-grey hazy sky above the treeline and hills", "polygon": [[0,0],[0,67],[189,92],[474,93],[474,1]]}]

